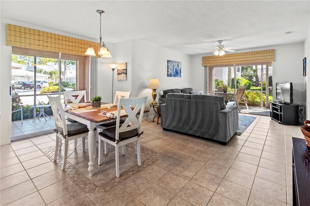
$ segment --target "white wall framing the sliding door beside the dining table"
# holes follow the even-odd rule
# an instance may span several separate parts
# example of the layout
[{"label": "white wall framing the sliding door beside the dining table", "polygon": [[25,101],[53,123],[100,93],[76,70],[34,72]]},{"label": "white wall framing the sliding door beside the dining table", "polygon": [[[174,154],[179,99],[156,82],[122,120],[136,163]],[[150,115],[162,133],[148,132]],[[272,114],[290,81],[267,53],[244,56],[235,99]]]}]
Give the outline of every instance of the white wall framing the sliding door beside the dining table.
[{"label": "white wall framing the sliding door beside the dining table", "polygon": [[[79,38],[79,39],[84,39],[88,41],[98,41],[98,39],[93,39],[85,36],[79,36],[76,34],[68,33],[68,32],[62,32],[54,29],[49,29],[49,28],[44,28],[32,24],[26,24],[23,22],[19,21],[14,21],[11,19],[6,19],[6,18],[1,18],[1,31],[0,31],[0,43],[1,43],[1,52],[0,52],[0,93],[1,93],[1,98],[0,98],[0,113],[1,113],[1,125],[0,125],[0,145],[4,144],[9,144],[10,143],[10,138],[11,138],[11,96],[9,94],[10,89],[9,87],[11,86],[11,53],[12,53],[12,48],[11,46],[6,46],[5,45],[5,31],[6,31],[6,24],[14,24],[17,26],[22,26],[22,27],[27,27],[27,28],[32,28],[32,29],[38,29],[41,31],[45,32],[51,32],[55,34],[60,34],[60,35],[65,35],[65,36],[71,36],[74,38]],[[105,42],[108,45],[109,50],[111,51],[112,56],[113,51],[114,51],[114,44],[113,43],[108,43]],[[87,48],[86,48],[87,49]],[[110,77],[109,75],[112,75],[111,68],[108,67],[107,63],[112,63],[114,62],[113,58],[100,58],[98,59],[98,71],[101,69],[101,71],[107,71],[106,74],[101,75],[101,78],[98,79],[101,82],[104,82],[105,84],[109,83],[107,80],[107,77]],[[98,72],[99,73],[99,72]],[[104,72],[103,72],[104,73]],[[112,83],[112,82],[111,82]],[[98,83],[99,84],[99,83]],[[112,88],[108,88],[107,84],[103,87],[101,87],[101,91],[104,92],[105,89],[110,89],[111,91]],[[102,86],[100,84],[100,86]],[[105,88],[107,86],[107,88]],[[100,91],[100,88],[98,88],[98,91]],[[111,91],[112,92],[112,91]],[[104,100],[108,101],[111,98],[110,94],[104,96]],[[5,121],[3,121],[5,120]]]}]

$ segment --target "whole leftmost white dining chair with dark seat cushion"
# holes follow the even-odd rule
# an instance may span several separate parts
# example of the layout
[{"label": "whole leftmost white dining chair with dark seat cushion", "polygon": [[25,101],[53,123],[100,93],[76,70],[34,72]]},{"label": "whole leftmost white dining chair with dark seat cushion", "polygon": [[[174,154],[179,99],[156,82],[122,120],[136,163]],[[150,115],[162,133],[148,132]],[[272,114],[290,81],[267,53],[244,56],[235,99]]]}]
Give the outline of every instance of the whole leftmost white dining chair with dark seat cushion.
[{"label": "whole leftmost white dining chair with dark seat cushion", "polygon": [[68,144],[70,140],[77,140],[82,138],[82,148],[85,150],[85,137],[88,135],[88,128],[85,124],[80,122],[66,123],[66,117],[64,116],[64,109],[60,102],[59,96],[47,95],[47,98],[51,104],[54,120],[55,120],[55,132],[56,132],[56,147],[54,161],[57,160],[59,141],[64,141],[64,159],[62,164],[62,170],[66,168]]}]

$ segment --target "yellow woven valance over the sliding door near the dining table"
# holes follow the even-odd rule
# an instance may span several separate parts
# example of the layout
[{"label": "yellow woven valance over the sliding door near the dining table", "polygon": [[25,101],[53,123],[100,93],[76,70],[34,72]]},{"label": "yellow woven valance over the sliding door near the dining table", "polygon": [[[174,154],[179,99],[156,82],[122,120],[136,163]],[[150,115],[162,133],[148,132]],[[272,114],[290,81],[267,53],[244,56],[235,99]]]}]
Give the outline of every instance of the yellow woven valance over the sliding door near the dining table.
[{"label": "yellow woven valance over the sliding door near the dining table", "polygon": [[[7,46],[87,56],[84,53],[91,43],[69,36],[6,24]],[[93,48],[100,58],[97,54],[98,46],[94,44]]]}]

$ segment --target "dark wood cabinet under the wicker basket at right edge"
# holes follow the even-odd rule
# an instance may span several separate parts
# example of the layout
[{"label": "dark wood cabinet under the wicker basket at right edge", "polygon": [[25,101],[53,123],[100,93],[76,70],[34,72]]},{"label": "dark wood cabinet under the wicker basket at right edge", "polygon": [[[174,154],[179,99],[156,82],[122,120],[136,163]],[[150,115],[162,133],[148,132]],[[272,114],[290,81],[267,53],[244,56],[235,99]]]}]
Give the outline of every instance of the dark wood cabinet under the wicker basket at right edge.
[{"label": "dark wood cabinet under the wicker basket at right edge", "polygon": [[293,141],[293,205],[310,205],[310,148],[304,139]]}]

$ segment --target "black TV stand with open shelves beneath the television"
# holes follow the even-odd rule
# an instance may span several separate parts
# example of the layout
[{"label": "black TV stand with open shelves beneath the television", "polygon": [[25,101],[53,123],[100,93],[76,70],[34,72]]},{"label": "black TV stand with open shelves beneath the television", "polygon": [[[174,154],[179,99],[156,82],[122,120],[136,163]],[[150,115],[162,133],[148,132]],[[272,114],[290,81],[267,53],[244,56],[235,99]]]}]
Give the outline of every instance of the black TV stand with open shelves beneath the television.
[{"label": "black TV stand with open shelves beneath the television", "polygon": [[270,101],[270,115],[272,119],[280,124],[299,124],[299,106],[298,104],[283,104],[277,101]]}]

